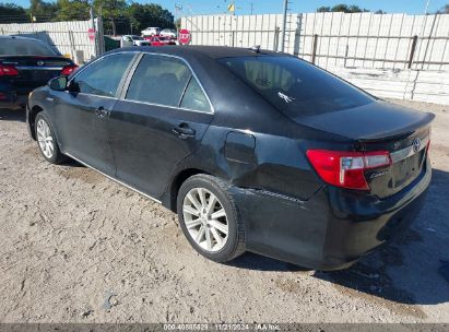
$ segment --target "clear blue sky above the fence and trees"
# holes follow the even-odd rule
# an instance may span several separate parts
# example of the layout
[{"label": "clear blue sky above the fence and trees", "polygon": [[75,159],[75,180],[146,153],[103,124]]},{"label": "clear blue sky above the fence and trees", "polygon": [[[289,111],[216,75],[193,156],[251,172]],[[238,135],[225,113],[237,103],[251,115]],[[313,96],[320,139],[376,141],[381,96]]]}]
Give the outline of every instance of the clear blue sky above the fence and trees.
[{"label": "clear blue sky above the fence and trees", "polygon": [[[133,0],[140,3],[158,3],[175,12],[175,3],[182,5],[180,14],[213,14],[223,13],[227,9],[227,4],[233,0]],[[435,12],[442,8],[449,0],[428,0],[428,11]],[[29,7],[29,0],[0,0],[0,2],[14,2],[25,8]],[[270,14],[281,13],[283,8],[283,0],[235,0],[236,14],[250,14],[251,3],[252,13],[255,14]],[[388,13],[407,13],[407,14],[423,14],[425,11],[427,0],[290,0],[292,2],[292,12],[315,12],[321,5],[333,7],[339,3],[356,4],[359,8],[371,11],[383,10]]]}]

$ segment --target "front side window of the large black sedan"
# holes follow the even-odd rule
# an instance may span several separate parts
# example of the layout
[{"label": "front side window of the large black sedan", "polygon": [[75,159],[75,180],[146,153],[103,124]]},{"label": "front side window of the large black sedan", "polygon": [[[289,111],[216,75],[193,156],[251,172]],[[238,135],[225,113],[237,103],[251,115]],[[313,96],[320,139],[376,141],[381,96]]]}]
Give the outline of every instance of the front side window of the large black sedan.
[{"label": "front side window of the large black sedan", "polygon": [[97,96],[116,96],[120,81],[133,57],[134,54],[126,52],[99,59],[74,76],[70,90]]}]

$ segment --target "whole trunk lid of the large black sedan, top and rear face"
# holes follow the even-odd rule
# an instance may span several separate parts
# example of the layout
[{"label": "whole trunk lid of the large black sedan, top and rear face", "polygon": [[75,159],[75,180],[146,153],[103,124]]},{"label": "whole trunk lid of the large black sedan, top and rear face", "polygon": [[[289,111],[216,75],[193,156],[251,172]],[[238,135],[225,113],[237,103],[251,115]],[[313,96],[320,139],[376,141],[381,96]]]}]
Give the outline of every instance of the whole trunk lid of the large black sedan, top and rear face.
[{"label": "whole trunk lid of the large black sedan, top and rear face", "polygon": [[425,171],[434,118],[433,114],[374,102],[351,109],[298,116],[293,120],[354,140],[357,150],[390,152],[390,166],[365,171],[371,193],[387,198]]}]

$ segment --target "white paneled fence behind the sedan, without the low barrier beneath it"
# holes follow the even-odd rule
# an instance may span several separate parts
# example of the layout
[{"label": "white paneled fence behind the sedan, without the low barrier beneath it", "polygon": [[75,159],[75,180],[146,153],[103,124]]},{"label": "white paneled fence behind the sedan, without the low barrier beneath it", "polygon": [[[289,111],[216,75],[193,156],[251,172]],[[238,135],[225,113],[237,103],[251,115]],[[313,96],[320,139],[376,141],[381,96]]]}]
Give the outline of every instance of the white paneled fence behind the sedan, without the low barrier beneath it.
[{"label": "white paneled fence behind the sedan, without the low barrier beneath it", "polygon": [[[279,50],[282,15],[184,17],[192,44]],[[449,69],[449,15],[288,14],[285,51],[323,68]]]}]

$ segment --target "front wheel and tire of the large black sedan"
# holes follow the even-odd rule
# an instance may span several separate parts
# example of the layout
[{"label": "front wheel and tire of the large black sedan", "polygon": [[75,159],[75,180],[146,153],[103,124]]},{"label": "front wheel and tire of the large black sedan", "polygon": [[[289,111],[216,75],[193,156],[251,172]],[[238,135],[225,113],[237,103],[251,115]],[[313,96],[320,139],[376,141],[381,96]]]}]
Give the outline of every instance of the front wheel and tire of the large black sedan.
[{"label": "front wheel and tire of the large black sedan", "polygon": [[[50,121],[48,117],[43,112],[38,112],[35,119],[35,134],[37,146],[44,158],[51,164],[62,164],[67,161],[67,156],[64,156],[61,151],[59,150],[58,141],[55,135],[55,131],[51,128]],[[45,142],[45,143],[44,143]],[[52,146],[52,147],[51,147]]]}]

